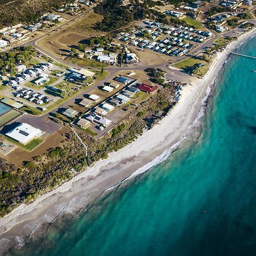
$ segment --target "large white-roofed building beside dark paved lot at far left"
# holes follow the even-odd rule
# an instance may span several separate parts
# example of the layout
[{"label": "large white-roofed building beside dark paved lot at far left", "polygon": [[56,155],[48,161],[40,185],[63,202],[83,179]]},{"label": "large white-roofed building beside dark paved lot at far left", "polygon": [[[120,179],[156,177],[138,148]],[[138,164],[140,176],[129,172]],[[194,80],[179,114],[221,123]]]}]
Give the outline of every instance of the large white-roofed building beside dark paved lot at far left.
[{"label": "large white-roofed building beside dark paved lot at far left", "polygon": [[6,136],[22,144],[27,144],[28,142],[32,141],[32,139],[40,137],[42,133],[43,132],[40,129],[28,125],[28,123],[19,123],[19,125],[14,129],[8,131]]}]

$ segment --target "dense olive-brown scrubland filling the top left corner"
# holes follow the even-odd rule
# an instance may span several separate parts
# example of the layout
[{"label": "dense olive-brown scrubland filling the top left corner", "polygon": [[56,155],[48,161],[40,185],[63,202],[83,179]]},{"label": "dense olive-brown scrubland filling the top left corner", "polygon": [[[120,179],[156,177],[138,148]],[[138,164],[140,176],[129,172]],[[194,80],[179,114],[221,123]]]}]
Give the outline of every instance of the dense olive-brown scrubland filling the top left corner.
[{"label": "dense olive-brown scrubland filling the top left corner", "polygon": [[32,23],[40,15],[56,10],[70,0],[0,0],[0,28],[17,23]]}]

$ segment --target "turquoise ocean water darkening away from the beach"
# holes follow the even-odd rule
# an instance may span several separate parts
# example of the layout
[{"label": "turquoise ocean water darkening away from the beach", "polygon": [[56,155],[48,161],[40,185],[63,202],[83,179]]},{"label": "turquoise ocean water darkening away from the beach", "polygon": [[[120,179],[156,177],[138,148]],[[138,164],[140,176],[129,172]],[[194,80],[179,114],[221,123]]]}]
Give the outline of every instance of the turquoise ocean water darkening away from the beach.
[{"label": "turquoise ocean water darkening away from the beach", "polygon": [[[256,56],[256,39],[237,52]],[[256,255],[253,69],[229,58],[196,142],[8,255]]]}]

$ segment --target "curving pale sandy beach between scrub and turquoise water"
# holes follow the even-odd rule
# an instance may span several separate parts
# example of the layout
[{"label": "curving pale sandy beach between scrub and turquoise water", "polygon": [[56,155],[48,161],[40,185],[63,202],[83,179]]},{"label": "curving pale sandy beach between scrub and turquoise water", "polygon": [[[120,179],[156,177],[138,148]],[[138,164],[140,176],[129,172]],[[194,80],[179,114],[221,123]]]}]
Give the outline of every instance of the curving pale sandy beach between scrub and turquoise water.
[{"label": "curving pale sandy beach between scrub and turquoise water", "polygon": [[7,250],[19,242],[22,245],[23,239],[33,234],[41,224],[51,223],[62,213],[79,211],[102,192],[148,170],[169,156],[174,147],[179,147],[189,128],[196,124],[197,118],[201,117],[201,111],[206,108],[202,102],[207,100],[209,88],[225,65],[230,51],[255,34],[254,29],[240,35],[218,53],[207,75],[200,80],[194,79],[192,85],[183,88],[175,108],[151,130],[144,131],[135,142],[110,153],[108,159],[100,160],[72,180],[39,196],[33,203],[21,204],[1,218],[1,250]]}]

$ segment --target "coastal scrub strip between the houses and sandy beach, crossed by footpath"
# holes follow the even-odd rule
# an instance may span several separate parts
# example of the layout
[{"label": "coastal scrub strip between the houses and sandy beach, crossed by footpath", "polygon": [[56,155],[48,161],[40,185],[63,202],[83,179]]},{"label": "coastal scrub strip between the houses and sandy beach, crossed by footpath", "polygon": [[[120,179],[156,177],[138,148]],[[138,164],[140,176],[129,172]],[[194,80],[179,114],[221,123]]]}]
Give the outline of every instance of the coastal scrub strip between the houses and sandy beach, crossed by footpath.
[{"label": "coastal scrub strip between the houses and sandy beach, crossed by footpath", "polygon": [[[90,145],[89,164],[106,158],[109,152],[117,151],[137,139],[143,129],[150,129],[169,112],[175,104],[174,100],[174,86],[160,90],[100,140],[77,131],[82,140]],[[16,167],[0,159],[0,216],[71,179],[73,170],[83,170],[86,166],[84,147],[79,146],[80,142],[72,132],[65,134],[65,137],[66,140],[58,147],[22,166]]]}]

